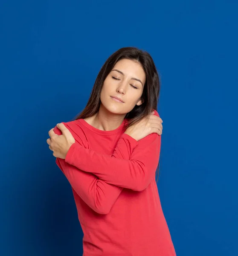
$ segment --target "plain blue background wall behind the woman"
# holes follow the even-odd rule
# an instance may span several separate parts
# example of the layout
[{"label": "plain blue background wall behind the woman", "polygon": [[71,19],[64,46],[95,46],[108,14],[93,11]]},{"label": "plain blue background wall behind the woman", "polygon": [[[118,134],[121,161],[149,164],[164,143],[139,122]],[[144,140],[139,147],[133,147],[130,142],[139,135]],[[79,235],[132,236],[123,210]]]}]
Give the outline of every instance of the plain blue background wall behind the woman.
[{"label": "plain blue background wall behind the woman", "polygon": [[1,256],[82,254],[46,139],[126,46],[161,77],[158,188],[177,256],[238,255],[237,12],[232,0],[1,1]]}]

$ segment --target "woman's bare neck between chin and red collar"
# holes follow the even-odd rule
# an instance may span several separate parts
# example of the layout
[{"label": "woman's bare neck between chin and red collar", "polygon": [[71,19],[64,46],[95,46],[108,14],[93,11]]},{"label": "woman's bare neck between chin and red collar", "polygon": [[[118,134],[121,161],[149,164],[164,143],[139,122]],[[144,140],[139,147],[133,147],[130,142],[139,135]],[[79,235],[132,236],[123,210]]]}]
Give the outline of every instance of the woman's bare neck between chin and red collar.
[{"label": "woman's bare neck between chin and red collar", "polygon": [[93,116],[91,125],[102,131],[115,130],[122,124],[125,115],[111,113],[101,104],[99,112]]}]

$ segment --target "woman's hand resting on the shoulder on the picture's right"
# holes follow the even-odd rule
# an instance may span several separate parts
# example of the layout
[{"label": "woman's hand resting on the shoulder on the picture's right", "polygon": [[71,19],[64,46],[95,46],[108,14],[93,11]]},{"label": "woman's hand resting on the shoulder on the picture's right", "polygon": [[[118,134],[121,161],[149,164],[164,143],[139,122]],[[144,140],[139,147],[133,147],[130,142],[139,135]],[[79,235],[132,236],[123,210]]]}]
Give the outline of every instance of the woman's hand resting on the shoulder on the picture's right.
[{"label": "woman's hand resting on the shoulder on the picture's right", "polygon": [[138,123],[131,125],[125,131],[125,134],[130,135],[135,140],[141,140],[149,134],[157,133],[162,134],[163,120],[154,115],[154,111],[148,116],[143,118]]}]

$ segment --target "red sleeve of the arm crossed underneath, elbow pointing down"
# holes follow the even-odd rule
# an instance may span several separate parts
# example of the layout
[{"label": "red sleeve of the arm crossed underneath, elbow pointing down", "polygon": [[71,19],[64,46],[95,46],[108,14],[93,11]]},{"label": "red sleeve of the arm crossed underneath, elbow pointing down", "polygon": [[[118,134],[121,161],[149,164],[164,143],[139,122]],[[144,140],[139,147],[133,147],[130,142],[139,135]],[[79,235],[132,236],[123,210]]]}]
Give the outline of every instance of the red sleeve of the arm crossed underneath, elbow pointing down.
[{"label": "red sleeve of the arm crossed underneath, elbow pointing down", "polygon": [[[54,128],[54,132],[58,135],[62,134],[57,126]],[[83,145],[83,143],[77,143],[78,145]],[[129,159],[133,149],[132,147],[131,151],[121,151],[118,148],[114,154],[118,158]],[[122,187],[109,184],[92,173],[83,172],[77,167],[67,163],[64,159],[57,157],[55,162],[64,173],[75,192],[89,207],[100,214],[110,212],[110,209],[122,192]]]}]

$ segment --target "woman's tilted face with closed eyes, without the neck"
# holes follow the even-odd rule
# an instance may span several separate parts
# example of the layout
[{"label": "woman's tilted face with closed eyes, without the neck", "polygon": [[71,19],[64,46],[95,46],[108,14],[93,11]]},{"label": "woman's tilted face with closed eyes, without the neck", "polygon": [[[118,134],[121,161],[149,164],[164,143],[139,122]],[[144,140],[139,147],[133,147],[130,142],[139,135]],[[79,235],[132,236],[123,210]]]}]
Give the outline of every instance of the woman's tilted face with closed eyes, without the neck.
[{"label": "woman's tilted face with closed eyes, without the neck", "polygon": [[[126,114],[141,105],[145,72],[138,62],[121,59],[106,77],[102,91],[102,105],[111,113]],[[116,99],[116,98],[118,99]]]}]

